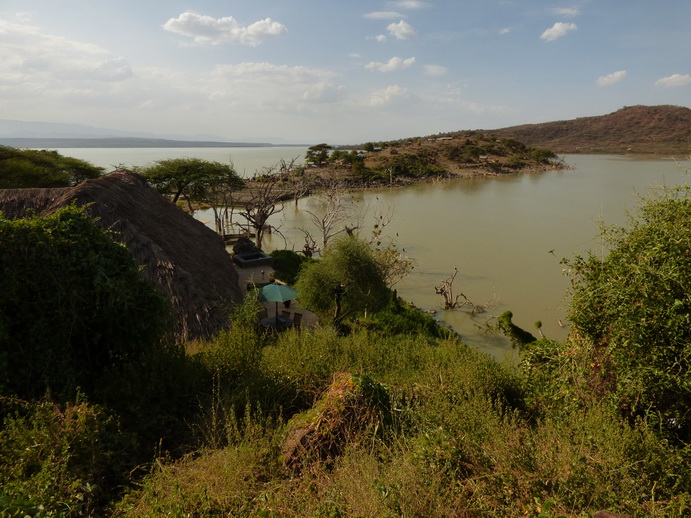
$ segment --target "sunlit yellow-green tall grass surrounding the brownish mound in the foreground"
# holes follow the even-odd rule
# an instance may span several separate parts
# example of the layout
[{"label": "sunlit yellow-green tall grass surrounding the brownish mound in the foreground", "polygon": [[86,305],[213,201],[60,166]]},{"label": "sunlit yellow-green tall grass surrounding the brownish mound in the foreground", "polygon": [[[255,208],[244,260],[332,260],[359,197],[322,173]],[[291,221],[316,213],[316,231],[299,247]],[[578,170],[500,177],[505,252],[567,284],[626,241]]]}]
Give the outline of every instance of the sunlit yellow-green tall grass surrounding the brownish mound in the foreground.
[{"label": "sunlit yellow-green tall grass surrounding the brownish mound in the foreground", "polygon": [[[604,404],[552,418],[532,406],[519,371],[457,340],[316,328],[265,343],[255,360],[263,386],[278,390],[274,406],[252,407],[250,396],[229,413],[224,447],[164,463],[121,515],[537,516],[545,502],[548,516],[691,510],[689,448]],[[383,383],[393,419],[381,433],[356,431],[330,462],[291,471],[280,461],[287,418],[337,372]],[[235,398],[221,400],[237,410]]]}]

